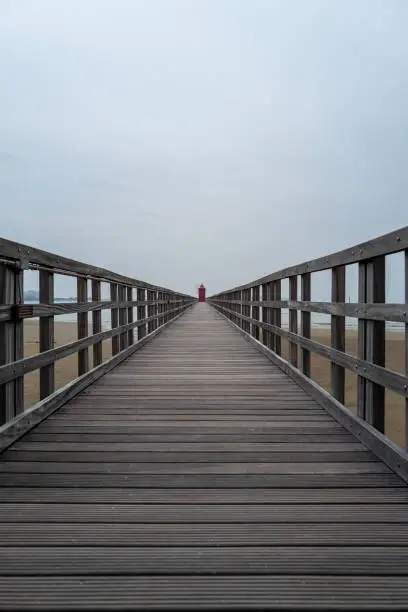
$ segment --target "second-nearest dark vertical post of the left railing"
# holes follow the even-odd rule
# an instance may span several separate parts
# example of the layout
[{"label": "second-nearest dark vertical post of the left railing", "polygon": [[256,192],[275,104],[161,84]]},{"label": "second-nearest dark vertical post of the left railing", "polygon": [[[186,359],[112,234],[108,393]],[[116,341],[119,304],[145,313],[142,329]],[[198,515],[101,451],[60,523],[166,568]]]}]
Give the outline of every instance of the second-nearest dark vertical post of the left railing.
[{"label": "second-nearest dark vertical post of the left railing", "polygon": [[[54,303],[54,274],[40,270],[40,304]],[[54,348],[54,316],[40,317],[40,353]],[[40,368],[40,399],[55,390],[55,366],[50,363]]]}]

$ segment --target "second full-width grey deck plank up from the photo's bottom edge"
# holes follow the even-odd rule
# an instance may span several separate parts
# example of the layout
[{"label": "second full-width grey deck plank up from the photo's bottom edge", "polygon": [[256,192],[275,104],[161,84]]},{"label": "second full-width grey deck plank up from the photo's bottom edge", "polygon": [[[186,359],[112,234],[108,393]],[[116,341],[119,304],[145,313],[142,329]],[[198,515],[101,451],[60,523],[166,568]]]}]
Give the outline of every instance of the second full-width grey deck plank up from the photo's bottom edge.
[{"label": "second full-width grey deck plank up from the photo's bottom edge", "polygon": [[[112,563],[112,557],[115,562]],[[330,549],[321,546],[265,545],[175,546],[175,547],[102,547],[73,548],[50,546],[10,547],[3,549],[4,576],[52,576],[55,574],[88,576],[233,576],[233,575],[298,575],[310,572],[315,576],[399,576],[408,575],[408,548],[351,547]],[[395,568],[398,567],[396,572]]]}]

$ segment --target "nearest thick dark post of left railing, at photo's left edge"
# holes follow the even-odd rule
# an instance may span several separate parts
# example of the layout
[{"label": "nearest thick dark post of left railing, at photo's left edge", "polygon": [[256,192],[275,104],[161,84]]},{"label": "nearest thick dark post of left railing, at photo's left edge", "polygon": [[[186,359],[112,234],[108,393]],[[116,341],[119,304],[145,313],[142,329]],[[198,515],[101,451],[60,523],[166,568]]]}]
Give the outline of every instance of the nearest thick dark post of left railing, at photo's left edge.
[{"label": "nearest thick dark post of left railing, at photo's left edge", "polygon": [[[0,264],[0,303],[15,306],[23,303],[24,270]],[[0,365],[24,357],[24,322],[15,319],[0,323]],[[24,410],[24,377],[0,385],[0,425]]]}]

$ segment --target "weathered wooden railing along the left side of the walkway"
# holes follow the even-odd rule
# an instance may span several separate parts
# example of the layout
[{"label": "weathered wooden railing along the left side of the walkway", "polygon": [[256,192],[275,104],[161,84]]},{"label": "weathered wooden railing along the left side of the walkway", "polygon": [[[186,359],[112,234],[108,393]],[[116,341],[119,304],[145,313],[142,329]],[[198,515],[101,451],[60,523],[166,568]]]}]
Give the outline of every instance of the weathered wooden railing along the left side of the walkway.
[{"label": "weathered wooden railing along the left side of the walkway", "polygon": [[[38,304],[24,303],[25,270],[39,272]],[[76,303],[54,303],[56,274],[76,277]],[[101,299],[101,283],[110,285],[109,300]],[[92,299],[88,301],[90,294]],[[36,412],[54,410],[130,355],[195,301],[191,296],[164,287],[0,239],[0,426],[23,413],[27,373],[40,371],[41,401],[35,407]],[[134,317],[135,308],[137,316]],[[111,329],[103,331],[105,309],[111,312]],[[92,333],[89,335],[90,312]],[[68,313],[77,314],[78,339],[54,347],[54,316]],[[33,317],[39,317],[39,354],[24,357],[24,320]],[[112,341],[112,357],[103,363],[102,342],[107,339]],[[92,369],[89,367],[91,347]],[[78,378],[55,391],[55,362],[74,353],[78,355]]]}]

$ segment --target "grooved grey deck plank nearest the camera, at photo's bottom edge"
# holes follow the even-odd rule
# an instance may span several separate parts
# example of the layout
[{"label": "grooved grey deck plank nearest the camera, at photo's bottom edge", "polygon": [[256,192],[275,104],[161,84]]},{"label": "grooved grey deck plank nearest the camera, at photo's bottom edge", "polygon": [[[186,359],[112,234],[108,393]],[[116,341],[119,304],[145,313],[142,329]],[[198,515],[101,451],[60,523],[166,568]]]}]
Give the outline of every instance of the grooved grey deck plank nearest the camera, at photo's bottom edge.
[{"label": "grooved grey deck plank nearest the camera, at photo's bottom edge", "polygon": [[406,576],[5,576],[6,609],[390,609],[408,598]]}]

